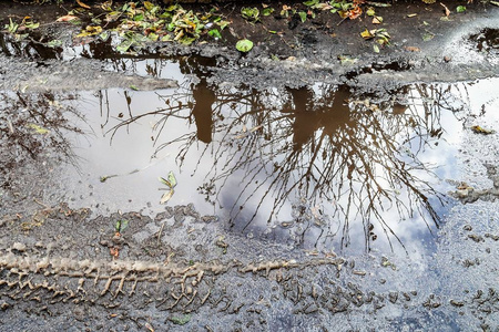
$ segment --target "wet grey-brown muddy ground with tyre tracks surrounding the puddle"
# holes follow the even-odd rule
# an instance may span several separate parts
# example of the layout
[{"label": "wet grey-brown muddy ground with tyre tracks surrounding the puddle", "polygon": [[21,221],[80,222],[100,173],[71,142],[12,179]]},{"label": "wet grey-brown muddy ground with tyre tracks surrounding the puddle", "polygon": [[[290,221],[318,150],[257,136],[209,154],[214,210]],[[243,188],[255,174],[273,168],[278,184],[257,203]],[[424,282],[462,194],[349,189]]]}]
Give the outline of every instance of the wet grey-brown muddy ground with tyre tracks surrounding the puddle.
[{"label": "wet grey-brown muddy ground with tyre tracks surrounding the puddle", "polygon": [[[391,35],[391,44],[379,54],[371,41],[359,37],[364,29],[375,28],[366,17],[340,21],[319,13],[296,24],[265,17],[262,23],[249,24],[238,14],[240,4],[221,4],[233,21],[233,32],[224,40],[191,46],[164,43],[141,56],[194,59],[210,73],[200,80],[210,84],[289,89],[320,82],[384,97],[409,83],[498,77],[493,31],[499,29],[499,8],[475,2],[457,14],[455,2],[445,4],[452,10],[450,21],[440,19],[445,14],[438,3],[401,1],[377,8]],[[0,12],[2,18],[32,15],[44,22],[65,13],[55,6],[7,2],[0,3]],[[417,15],[409,18],[411,13]],[[262,25],[284,34],[269,34]],[[62,126],[78,132],[81,128],[71,127],[64,117],[71,110],[60,111],[53,106],[57,101],[70,101],[79,91],[130,86],[150,91],[174,87],[177,82],[110,70],[96,51],[91,59],[67,58],[63,50],[72,43],[68,25],[51,23],[43,29],[42,34],[65,38],[65,48],[50,56],[40,56],[41,51],[17,54],[9,51],[4,35],[0,40],[2,329],[499,329],[499,146],[493,136],[473,135],[462,143],[456,156],[465,165],[459,174],[483,184],[483,189],[462,186],[461,177],[454,179],[461,187],[454,191],[456,199],[432,237],[434,252],[422,259],[414,252],[389,251],[348,256],[340,249],[304,250],[252,238],[232,231],[228,220],[216,214],[198,212],[192,204],[166,206],[154,215],[145,212],[147,207],[130,211],[126,206],[95,214],[89,207],[73,207],[65,196],[49,195],[53,188],[64,188],[54,169],[61,160],[75,157],[64,155],[64,134],[45,142],[23,136],[18,128],[42,118],[51,131]],[[432,39],[424,41],[427,33]],[[247,54],[234,49],[241,37],[255,42]],[[23,46],[28,50],[30,44]],[[19,98],[12,102],[16,95]],[[22,111],[28,108],[38,112]]]}]

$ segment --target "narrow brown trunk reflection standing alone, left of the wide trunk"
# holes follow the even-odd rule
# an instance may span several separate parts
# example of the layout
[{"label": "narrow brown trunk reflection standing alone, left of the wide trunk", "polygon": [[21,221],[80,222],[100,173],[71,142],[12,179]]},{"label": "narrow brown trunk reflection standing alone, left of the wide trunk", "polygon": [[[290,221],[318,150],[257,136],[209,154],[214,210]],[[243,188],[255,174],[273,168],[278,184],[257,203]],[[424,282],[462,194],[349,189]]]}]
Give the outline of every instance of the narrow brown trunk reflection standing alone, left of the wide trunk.
[{"label": "narrow brown trunk reflection standing alone, left of the wide trunk", "polygon": [[213,118],[212,105],[215,102],[215,93],[207,86],[206,80],[202,79],[200,84],[192,90],[195,105],[192,110],[197,127],[197,138],[204,143],[212,142]]}]

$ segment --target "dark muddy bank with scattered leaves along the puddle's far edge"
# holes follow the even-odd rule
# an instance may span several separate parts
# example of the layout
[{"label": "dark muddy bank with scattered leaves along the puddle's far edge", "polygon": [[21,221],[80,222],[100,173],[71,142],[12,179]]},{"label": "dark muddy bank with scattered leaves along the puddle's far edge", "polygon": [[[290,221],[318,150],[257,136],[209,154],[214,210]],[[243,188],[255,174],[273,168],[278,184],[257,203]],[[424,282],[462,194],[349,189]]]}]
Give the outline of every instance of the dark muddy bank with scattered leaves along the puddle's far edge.
[{"label": "dark muddy bank with scattered leaves along the puddle's far edge", "polygon": [[[299,3],[294,6],[303,7]],[[449,3],[448,7],[454,8],[455,4]],[[208,9],[195,8],[200,11]],[[390,8],[376,8],[376,13],[384,18],[381,25],[373,24],[367,15],[357,20],[340,20],[329,12],[318,12],[314,19],[292,25],[292,19],[277,14],[249,23],[242,18],[241,6],[226,4],[218,10],[231,21],[231,29],[224,30],[220,40],[201,38],[189,46],[174,42],[149,43],[135,55],[126,55],[116,51],[119,41],[115,39],[75,38],[84,23],[80,27],[55,22],[58,17],[64,14],[64,8],[40,7],[40,12],[33,13],[30,7],[7,8],[3,4],[0,11],[13,18],[32,14],[42,25],[27,41],[16,41],[8,34],[2,37],[2,54],[21,56],[26,62],[2,59],[2,68],[9,70],[3,71],[1,84],[3,89],[18,90],[39,90],[49,83],[50,89],[59,90],[113,85],[161,89],[171,83],[119,77],[103,69],[102,63],[81,58],[172,59],[190,54],[213,59],[211,66],[217,73],[213,80],[218,83],[244,83],[259,87],[263,84],[303,86],[318,81],[333,84],[359,82],[364,86],[376,86],[380,81],[394,87],[414,82],[483,79],[498,72],[495,31],[499,29],[499,8],[490,3],[469,4],[466,13],[452,12],[446,18],[441,6],[397,2]],[[383,28],[390,33],[389,44],[383,46],[379,53],[374,51],[373,40],[360,37],[366,28]],[[278,33],[269,33],[269,30]],[[235,49],[235,42],[242,37],[253,40],[255,44],[247,53]],[[51,40],[57,40],[60,46],[51,45]]]}]

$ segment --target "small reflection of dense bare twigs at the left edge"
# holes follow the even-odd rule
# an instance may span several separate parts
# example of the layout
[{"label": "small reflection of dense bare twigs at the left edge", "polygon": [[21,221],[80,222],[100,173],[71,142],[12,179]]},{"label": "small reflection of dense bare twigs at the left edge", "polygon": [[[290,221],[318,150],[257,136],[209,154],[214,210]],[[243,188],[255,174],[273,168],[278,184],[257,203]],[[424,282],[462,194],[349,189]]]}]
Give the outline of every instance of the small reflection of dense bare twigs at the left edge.
[{"label": "small reflection of dense bare twigs at the left edge", "polygon": [[4,92],[0,102],[0,175],[2,186],[8,186],[9,176],[18,165],[40,159],[55,152],[74,163],[75,155],[68,132],[82,133],[71,125],[71,116],[79,116],[67,102],[74,96],[53,93],[24,94]]}]

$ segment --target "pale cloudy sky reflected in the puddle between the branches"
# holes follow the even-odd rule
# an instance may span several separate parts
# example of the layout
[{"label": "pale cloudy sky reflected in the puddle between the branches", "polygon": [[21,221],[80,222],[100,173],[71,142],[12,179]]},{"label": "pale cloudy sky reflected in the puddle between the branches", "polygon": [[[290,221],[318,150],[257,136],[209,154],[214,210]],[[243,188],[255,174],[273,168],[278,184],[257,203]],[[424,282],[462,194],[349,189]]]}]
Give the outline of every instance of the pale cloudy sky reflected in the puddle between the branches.
[{"label": "pale cloudy sky reflected in the puddle between the branches", "polygon": [[[175,65],[172,68],[175,68]],[[170,72],[170,74],[176,75],[174,71]],[[487,83],[487,81],[485,82]],[[488,85],[486,83],[483,84],[487,89],[493,85]],[[436,89],[444,87],[444,85],[436,85]],[[461,100],[462,91],[456,90],[464,87],[467,89],[470,102],[468,102],[468,100]],[[459,148],[462,139],[462,123],[457,120],[457,115],[461,118],[465,116],[464,113],[472,113],[477,107],[481,107],[481,104],[483,103],[490,104],[493,97],[488,98],[486,96],[483,101],[478,101],[478,98],[475,98],[476,95],[480,98],[483,97],[482,92],[486,87],[480,86],[479,83],[475,85],[458,84],[450,86],[450,90],[444,93],[444,95],[447,101],[450,101],[450,106],[457,107],[458,110],[465,106],[462,112],[459,114],[454,114],[447,110],[439,110],[438,106],[435,106],[435,102],[431,98],[428,98],[427,95],[419,95],[416,90],[411,90],[409,93],[410,97],[407,98],[407,102],[409,107],[413,107],[410,108],[411,112],[424,117],[425,112],[428,111],[424,107],[424,104],[427,106],[431,105],[434,110],[432,112],[436,112],[439,116],[439,124],[444,126],[445,132],[441,138],[429,139],[430,144],[426,145],[425,148],[419,151],[417,154],[417,158],[420,162],[436,167],[435,173],[438,175],[439,179],[429,176],[426,172],[418,172],[418,176],[422,177],[424,180],[428,180],[431,185],[437,186],[437,188],[442,189],[444,191],[449,187],[442,180],[456,178],[455,160],[457,156],[457,148]],[[314,86],[314,91],[320,91],[320,86]],[[109,90],[105,93],[108,94],[110,105],[109,118],[105,115],[105,110],[104,114],[101,114],[102,111],[100,110],[99,100],[94,95],[83,95],[84,103],[81,103],[81,111],[84,113],[89,125],[92,126],[94,135],[89,135],[84,138],[74,138],[75,145],[78,146],[77,153],[83,159],[80,166],[82,174],[78,175],[67,169],[65,179],[68,181],[70,193],[72,189],[74,196],[77,196],[77,193],[78,195],[85,193],[80,197],[74,197],[74,204],[90,206],[96,212],[101,214],[113,212],[115,210],[140,210],[147,207],[144,212],[153,215],[164,209],[164,206],[159,204],[161,195],[164,193],[160,191],[159,188],[164,188],[164,185],[157,180],[157,177],[166,177],[167,173],[173,170],[177,178],[177,186],[175,187],[175,194],[167,205],[174,206],[194,203],[196,209],[202,214],[217,214],[221,217],[226,218],[233,204],[235,203],[235,212],[233,211],[232,215],[237,215],[235,220],[237,225],[235,228],[238,230],[252,221],[255,207],[258,206],[256,217],[249,224],[248,228],[246,228],[245,232],[251,232],[258,236],[262,234],[267,234],[271,230],[274,232],[291,231],[292,234],[296,231],[296,228],[292,230],[281,229],[277,224],[282,221],[293,221],[293,205],[299,203],[301,199],[309,200],[310,197],[307,197],[307,193],[299,190],[292,191],[292,195],[289,195],[282,209],[279,209],[278,214],[272,218],[269,224],[267,224],[267,220],[269,212],[274,209],[275,196],[271,193],[271,195],[266,196],[266,198],[262,200],[262,197],[264,197],[264,195],[268,191],[268,183],[276,180],[278,177],[278,174],[273,173],[275,172],[273,164],[279,164],[285,158],[285,155],[277,153],[271,159],[269,156],[272,153],[269,149],[274,151],[274,153],[283,149],[286,145],[291,144],[291,136],[286,138],[287,141],[283,138],[284,141],[279,141],[269,147],[262,147],[263,145],[259,144],[264,143],[264,138],[258,136],[235,139],[234,137],[241,134],[240,131],[242,131],[243,124],[246,125],[248,129],[256,125],[255,123],[252,123],[252,121],[255,120],[247,117],[247,123],[242,123],[241,125],[234,126],[231,135],[227,136],[226,133],[221,131],[214,135],[213,143],[206,145],[205,143],[196,139],[195,124],[192,120],[186,118],[190,116],[190,110],[184,110],[177,113],[177,115],[185,118],[170,117],[166,126],[161,133],[157,132],[157,128],[154,128],[154,125],[162,120],[163,115],[145,116],[131,123],[129,126],[121,127],[115,132],[112,142],[110,142],[112,132],[108,131],[120,122],[126,120],[129,117],[129,110],[124,97],[124,91]],[[172,94],[172,91],[160,91],[157,93],[129,91],[128,93],[131,96],[131,113],[136,116],[165,107],[166,105],[164,98],[159,97],[159,95]],[[182,93],[185,93],[185,90],[183,90]],[[492,94],[489,94],[489,96],[491,95]],[[176,97],[180,97],[180,94],[177,94]],[[186,97],[189,98],[189,95]],[[283,103],[281,100],[273,97],[266,97],[265,102],[267,103],[266,107],[268,108],[278,108],[278,106]],[[497,104],[497,97],[495,103]],[[186,101],[184,101],[184,104],[186,104]],[[247,106],[245,105],[238,105],[236,106],[236,111],[238,110],[242,112],[246,110],[246,107]],[[227,105],[222,108],[221,112],[224,115],[225,121],[215,123],[215,126],[222,124],[228,126],[232,121],[231,117],[234,116],[235,111],[231,111],[230,105]],[[123,118],[118,117],[120,113],[124,114]],[[368,116],[368,114],[366,114],[366,116]],[[373,114],[373,116],[377,115]],[[273,131],[273,134],[275,134],[283,131],[283,124],[289,125],[289,120],[283,117],[279,121],[271,122],[268,127],[265,129],[271,129]],[[101,126],[103,126],[102,129]],[[387,131],[390,131],[390,128],[387,128]],[[155,137],[156,135],[160,136],[157,144],[154,146],[152,136]],[[318,134],[315,133],[315,136],[317,135]],[[159,144],[175,141],[182,136],[189,136],[192,139],[192,144],[186,149],[185,159],[182,167],[179,167],[180,160],[176,159],[176,157],[179,153],[186,147],[184,145],[185,141],[172,143],[166,148],[161,149],[155,155],[155,158],[151,159]],[[245,144],[248,144],[249,139],[256,139],[254,149],[244,151]],[[403,139],[403,136],[400,139]],[[413,141],[413,143],[414,146],[418,146],[415,141]],[[409,149],[415,151],[414,146],[409,147]],[[243,149],[240,151],[242,147]],[[374,147],[370,146],[369,148]],[[223,153],[221,153],[221,151]],[[253,162],[244,165],[246,168],[243,167],[232,172],[232,167],[242,158],[247,157],[247,154],[255,156],[264,155],[264,158],[267,159],[262,162],[259,158],[255,157]],[[302,155],[301,158],[306,159],[307,156]],[[262,167],[262,163],[267,164]],[[324,164],[317,163],[317,165],[319,167],[324,167]],[[262,168],[259,173],[249,173],[251,175],[247,176],[247,173],[245,172],[246,169],[256,169],[258,167]],[[140,172],[129,175],[129,173],[135,169],[140,169]],[[379,170],[379,165],[375,166],[374,170]],[[210,180],[210,176],[221,175],[224,172],[227,173],[228,176],[221,177],[215,181],[216,188],[218,190],[222,188],[222,190],[217,196],[213,193],[207,194],[210,200],[214,203],[214,205],[212,205],[212,203],[205,201],[206,195],[200,194],[198,188]],[[101,176],[114,174],[119,174],[121,176],[109,178],[105,183],[100,183],[99,178]],[[294,176],[296,176],[296,174],[293,174],[291,179],[293,179]],[[75,179],[80,179],[81,183],[78,183]],[[381,184],[384,184],[384,186],[388,186],[387,181],[381,181]],[[354,188],[358,188],[360,185],[360,183],[355,183]],[[246,191],[237,200],[240,193],[246,186]],[[289,184],[287,184],[284,188],[288,187]],[[408,200],[410,198],[408,197],[407,189],[397,189],[399,191],[395,193],[394,190],[393,195],[397,195],[405,205],[409,206],[413,204]],[[347,204],[347,198],[339,197],[336,201],[332,201],[326,198],[316,198],[317,200],[315,203],[312,201],[310,209],[313,211],[322,210],[324,219],[332,222],[330,232],[340,234],[343,226],[338,222],[342,221],[342,218],[338,217],[338,215],[336,215],[335,218],[328,218],[328,216],[333,216],[335,208],[338,206],[345,206],[345,204]],[[242,205],[242,203],[244,203],[245,208],[238,212],[238,205]],[[406,246],[406,249],[410,255],[422,255],[428,247],[432,247],[432,235],[428,231],[427,222],[434,230],[435,227],[431,226],[432,221],[428,216],[425,216],[425,212],[420,214],[416,210],[414,216],[406,216],[401,218],[398,210],[394,208],[394,204],[390,205],[390,203],[385,200],[383,206],[385,209],[379,210],[380,217],[389,225],[394,234],[399,237],[400,241]],[[356,210],[353,210],[352,216],[356,212]],[[424,217],[426,217],[426,220]],[[313,221],[314,220],[312,219],[310,222],[313,224]],[[357,220],[352,220],[348,228],[352,248],[354,248],[352,249],[353,251],[361,251],[364,249],[365,230],[363,224],[358,221],[357,216]],[[389,250],[389,246],[386,241],[384,231],[379,227],[379,224],[374,221],[373,224],[375,225],[374,230],[377,235],[377,240],[371,243],[373,250]],[[298,225],[298,227],[308,228],[305,232],[305,238],[308,239],[309,242],[305,243],[304,247],[309,248],[316,245],[315,240],[320,235],[320,228],[316,226],[307,226],[306,224]],[[278,237],[278,235],[274,236]],[[298,232],[297,236],[299,237],[301,234]],[[338,237],[330,241],[329,238],[325,237],[325,234],[320,236],[322,239],[318,243],[319,247],[334,246],[337,248]],[[273,236],[271,236],[271,238]],[[400,245],[397,243],[396,238],[390,236],[390,240],[395,249],[400,249]]]}]

